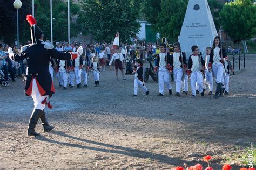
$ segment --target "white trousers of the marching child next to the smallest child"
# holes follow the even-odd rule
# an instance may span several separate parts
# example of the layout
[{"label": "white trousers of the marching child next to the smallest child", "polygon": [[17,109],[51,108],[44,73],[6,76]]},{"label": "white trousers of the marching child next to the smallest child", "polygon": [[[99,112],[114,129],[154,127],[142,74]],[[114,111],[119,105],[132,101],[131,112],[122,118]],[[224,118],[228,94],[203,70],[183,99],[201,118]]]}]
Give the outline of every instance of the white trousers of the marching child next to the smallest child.
[{"label": "white trousers of the marching child next to the smallest child", "polygon": [[164,94],[164,84],[168,90],[172,89],[171,82],[170,82],[170,73],[168,70],[159,70],[158,71],[158,86],[159,86],[159,93]]}]

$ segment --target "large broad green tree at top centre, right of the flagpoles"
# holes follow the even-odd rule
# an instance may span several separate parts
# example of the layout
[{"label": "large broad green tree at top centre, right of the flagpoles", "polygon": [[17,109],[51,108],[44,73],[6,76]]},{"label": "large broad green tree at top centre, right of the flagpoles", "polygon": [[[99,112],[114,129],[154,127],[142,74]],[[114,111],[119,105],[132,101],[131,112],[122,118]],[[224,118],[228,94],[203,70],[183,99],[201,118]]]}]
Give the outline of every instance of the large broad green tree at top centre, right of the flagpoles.
[{"label": "large broad green tree at top centre, right of the flagpoles", "polygon": [[120,41],[129,41],[139,32],[140,1],[136,0],[83,0],[83,27],[96,40],[113,40],[119,32]]}]

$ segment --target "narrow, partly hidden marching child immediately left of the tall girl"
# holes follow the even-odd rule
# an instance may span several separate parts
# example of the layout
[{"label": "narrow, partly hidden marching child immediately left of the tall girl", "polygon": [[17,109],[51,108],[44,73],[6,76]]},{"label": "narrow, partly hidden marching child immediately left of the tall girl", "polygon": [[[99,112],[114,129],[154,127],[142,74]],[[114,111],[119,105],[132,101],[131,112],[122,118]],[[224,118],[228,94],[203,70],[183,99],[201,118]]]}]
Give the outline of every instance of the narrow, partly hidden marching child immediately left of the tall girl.
[{"label": "narrow, partly hidden marching child immediately left of the tall girl", "polygon": [[210,60],[210,54],[211,54],[211,47],[207,47],[206,48],[206,56],[205,56],[205,88],[206,85],[209,88],[209,93],[208,95],[212,95],[212,89],[213,89],[213,76],[212,76],[212,72],[209,70],[208,64],[209,64],[209,60]]}]

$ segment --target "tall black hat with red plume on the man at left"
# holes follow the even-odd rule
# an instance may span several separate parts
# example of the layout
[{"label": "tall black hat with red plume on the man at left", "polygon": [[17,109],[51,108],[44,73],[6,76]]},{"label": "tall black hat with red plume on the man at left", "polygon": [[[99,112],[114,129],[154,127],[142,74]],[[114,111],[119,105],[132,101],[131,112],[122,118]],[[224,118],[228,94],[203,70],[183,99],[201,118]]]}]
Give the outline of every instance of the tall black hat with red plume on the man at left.
[{"label": "tall black hat with red plume on the man at left", "polygon": [[43,32],[39,28],[39,26],[36,25],[36,19],[32,15],[27,15],[26,20],[31,25],[30,33],[31,33],[32,43],[37,44],[37,41],[41,38],[41,36],[43,35]]}]

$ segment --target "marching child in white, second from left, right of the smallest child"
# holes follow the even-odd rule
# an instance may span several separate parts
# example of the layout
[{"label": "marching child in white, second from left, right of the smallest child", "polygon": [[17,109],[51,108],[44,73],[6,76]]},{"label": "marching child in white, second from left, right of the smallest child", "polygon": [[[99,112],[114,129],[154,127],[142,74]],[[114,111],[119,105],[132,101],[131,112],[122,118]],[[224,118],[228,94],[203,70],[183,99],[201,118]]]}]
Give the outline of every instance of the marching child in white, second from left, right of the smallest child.
[{"label": "marching child in white, second from left, right of the smallest child", "polygon": [[166,84],[169,95],[172,95],[172,86],[169,73],[169,69],[171,67],[171,55],[165,52],[166,44],[162,43],[159,47],[161,52],[157,54],[157,65],[154,68],[155,74],[158,70],[158,96],[164,96],[164,84]]}]

